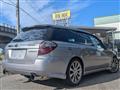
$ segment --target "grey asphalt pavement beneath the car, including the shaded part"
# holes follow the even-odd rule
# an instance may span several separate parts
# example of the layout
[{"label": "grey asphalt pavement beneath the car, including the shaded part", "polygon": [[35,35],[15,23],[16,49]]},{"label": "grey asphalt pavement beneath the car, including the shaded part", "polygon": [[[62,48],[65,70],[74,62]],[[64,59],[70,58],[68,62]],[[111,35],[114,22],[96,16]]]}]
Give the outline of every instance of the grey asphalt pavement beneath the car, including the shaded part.
[{"label": "grey asphalt pavement beneath the car, including the shaded part", "polygon": [[3,76],[1,71],[0,90],[120,90],[120,71],[118,73],[102,71],[86,75],[77,87],[70,87],[60,79],[29,82],[18,74]]}]

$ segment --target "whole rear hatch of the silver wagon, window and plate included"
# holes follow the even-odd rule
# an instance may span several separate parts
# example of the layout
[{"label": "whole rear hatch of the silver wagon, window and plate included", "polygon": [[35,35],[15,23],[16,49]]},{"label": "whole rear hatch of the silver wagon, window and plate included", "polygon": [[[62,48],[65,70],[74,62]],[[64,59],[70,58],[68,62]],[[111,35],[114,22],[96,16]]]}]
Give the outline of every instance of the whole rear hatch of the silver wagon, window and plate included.
[{"label": "whole rear hatch of the silver wagon, window and plate included", "polygon": [[48,35],[46,29],[22,32],[7,45],[5,59],[9,63],[33,64],[38,55],[39,44],[49,40]]}]

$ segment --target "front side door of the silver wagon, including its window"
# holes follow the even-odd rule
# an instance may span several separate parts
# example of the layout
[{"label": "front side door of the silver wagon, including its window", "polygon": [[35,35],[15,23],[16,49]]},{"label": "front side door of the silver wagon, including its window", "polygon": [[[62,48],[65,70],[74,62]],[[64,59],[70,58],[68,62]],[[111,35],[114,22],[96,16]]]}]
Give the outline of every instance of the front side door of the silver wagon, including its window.
[{"label": "front side door of the silver wagon, including its window", "polygon": [[92,40],[94,46],[95,46],[95,51],[96,55],[93,58],[94,59],[94,69],[99,69],[99,68],[106,68],[109,65],[109,62],[111,60],[111,57],[108,56],[106,53],[106,49],[104,48],[104,45],[102,42],[95,36],[90,36],[90,39]]}]

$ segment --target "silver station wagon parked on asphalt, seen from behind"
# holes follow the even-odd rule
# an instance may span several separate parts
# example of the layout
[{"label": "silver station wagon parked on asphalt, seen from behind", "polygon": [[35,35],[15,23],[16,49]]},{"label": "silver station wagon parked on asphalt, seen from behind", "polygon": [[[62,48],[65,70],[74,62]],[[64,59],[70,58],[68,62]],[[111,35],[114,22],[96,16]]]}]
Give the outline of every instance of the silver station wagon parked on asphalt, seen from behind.
[{"label": "silver station wagon parked on asphalt, seen from behind", "polygon": [[78,85],[82,76],[109,70],[118,72],[119,60],[94,35],[70,27],[26,27],[5,49],[5,72],[33,80],[38,76],[65,79]]}]

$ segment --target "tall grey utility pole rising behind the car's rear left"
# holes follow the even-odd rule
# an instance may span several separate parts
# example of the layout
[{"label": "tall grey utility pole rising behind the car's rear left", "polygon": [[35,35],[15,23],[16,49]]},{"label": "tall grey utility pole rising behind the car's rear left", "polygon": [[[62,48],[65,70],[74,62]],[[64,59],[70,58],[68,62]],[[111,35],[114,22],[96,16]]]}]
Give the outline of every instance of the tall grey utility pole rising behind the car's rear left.
[{"label": "tall grey utility pole rising behind the car's rear left", "polygon": [[17,20],[17,34],[20,33],[20,13],[19,13],[19,0],[16,4],[16,20]]}]

